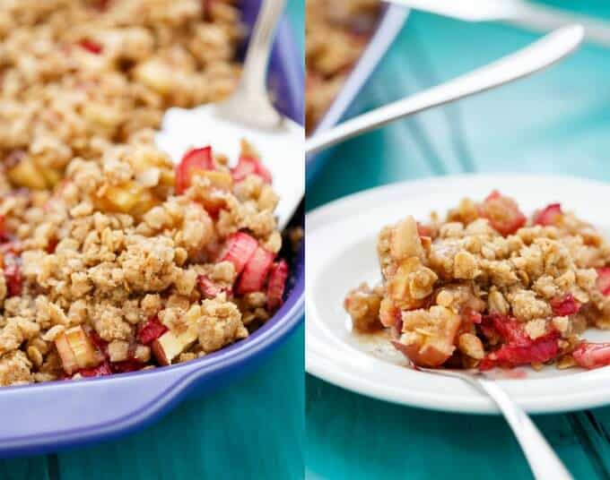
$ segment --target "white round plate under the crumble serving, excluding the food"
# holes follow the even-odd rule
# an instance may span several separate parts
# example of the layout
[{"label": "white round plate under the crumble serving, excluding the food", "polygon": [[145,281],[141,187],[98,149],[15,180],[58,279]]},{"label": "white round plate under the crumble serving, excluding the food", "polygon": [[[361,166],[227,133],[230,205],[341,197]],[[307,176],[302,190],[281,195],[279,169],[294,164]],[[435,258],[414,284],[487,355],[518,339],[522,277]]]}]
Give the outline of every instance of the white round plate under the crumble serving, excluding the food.
[{"label": "white round plate under the crumble serving, excluding the food", "polygon": [[[562,176],[449,176],[391,184],[334,201],[306,218],[306,366],[317,377],[376,399],[469,413],[497,413],[492,401],[466,383],[415,372],[384,339],[362,339],[349,330],[344,295],[363,280],[379,281],[375,250],[379,229],[407,214],[444,215],[464,196],[482,199],[492,189],[514,197],[531,213],[560,201],[610,232],[610,185]],[[588,330],[596,341],[610,331]],[[528,412],[557,412],[610,403],[610,367],[585,372],[518,369],[525,378],[499,380]]]}]

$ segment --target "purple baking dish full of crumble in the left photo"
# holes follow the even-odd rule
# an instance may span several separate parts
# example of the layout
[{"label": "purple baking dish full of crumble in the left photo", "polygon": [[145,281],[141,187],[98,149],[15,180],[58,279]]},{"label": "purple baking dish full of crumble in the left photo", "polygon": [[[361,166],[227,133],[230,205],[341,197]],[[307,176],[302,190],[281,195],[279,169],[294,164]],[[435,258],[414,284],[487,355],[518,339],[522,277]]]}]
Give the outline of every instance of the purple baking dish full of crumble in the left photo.
[{"label": "purple baking dish full of crumble in the left photo", "polygon": [[[261,0],[243,0],[248,26]],[[278,108],[303,119],[302,55],[287,18],[275,40],[269,83]],[[292,221],[303,226],[302,209]],[[303,316],[304,252],[294,255],[285,304],[248,339],[205,358],[83,381],[50,381],[0,389],[0,456],[59,450],[108,440],[149,424],[196,390],[211,390],[257,364],[300,323]]]}]

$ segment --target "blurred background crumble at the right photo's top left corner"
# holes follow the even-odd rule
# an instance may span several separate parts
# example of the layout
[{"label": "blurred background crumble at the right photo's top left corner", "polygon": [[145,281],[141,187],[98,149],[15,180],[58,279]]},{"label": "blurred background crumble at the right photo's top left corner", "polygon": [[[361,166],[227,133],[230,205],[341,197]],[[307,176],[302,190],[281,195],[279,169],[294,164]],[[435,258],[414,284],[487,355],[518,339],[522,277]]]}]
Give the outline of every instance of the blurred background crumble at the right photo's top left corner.
[{"label": "blurred background crumble at the right photo's top left corner", "polygon": [[307,0],[306,129],[310,133],[335,99],[379,19],[379,0]]}]

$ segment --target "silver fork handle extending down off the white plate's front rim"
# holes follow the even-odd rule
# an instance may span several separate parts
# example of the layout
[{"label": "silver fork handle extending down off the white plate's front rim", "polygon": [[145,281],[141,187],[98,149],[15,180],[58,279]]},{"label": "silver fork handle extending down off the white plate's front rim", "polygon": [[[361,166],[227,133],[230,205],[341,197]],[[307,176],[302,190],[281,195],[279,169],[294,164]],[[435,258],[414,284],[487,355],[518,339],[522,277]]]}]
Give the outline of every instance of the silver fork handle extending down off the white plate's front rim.
[{"label": "silver fork handle extending down off the white plate's front rim", "polygon": [[527,414],[510,399],[506,391],[494,381],[477,379],[477,385],[489,395],[500,408],[502,415],[510,425],[512,432],[517,437],[521,450],[527,458],[529,467],[536,480],[572,480],[568,469],[562,464],[551,445],[536,424]]}]

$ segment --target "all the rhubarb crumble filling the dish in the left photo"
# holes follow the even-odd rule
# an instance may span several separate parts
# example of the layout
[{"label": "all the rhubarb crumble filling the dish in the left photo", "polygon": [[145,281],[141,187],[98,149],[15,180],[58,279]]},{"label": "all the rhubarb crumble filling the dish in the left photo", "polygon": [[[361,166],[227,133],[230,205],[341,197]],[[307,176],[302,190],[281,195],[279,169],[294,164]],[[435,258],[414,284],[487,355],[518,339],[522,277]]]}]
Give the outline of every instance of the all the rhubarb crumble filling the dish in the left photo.
[{"label": "all the rhubarb crumble filling the dish in the left photo", "polygon": [[185,362],[281,306],[257,152],[153,143],[231,92],[241,37],[231,0],[0,3],[0,386]]}]

